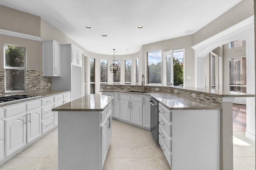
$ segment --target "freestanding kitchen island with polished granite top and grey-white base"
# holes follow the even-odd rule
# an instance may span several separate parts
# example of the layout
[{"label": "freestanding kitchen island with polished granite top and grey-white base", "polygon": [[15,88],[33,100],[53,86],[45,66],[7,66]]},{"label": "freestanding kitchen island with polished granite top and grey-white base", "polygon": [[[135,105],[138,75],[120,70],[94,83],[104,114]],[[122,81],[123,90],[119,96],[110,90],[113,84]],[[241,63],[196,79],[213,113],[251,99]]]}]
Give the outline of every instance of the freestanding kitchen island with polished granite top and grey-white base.
[{"label": "freestanding kitchen island with polished granite top and grey-white base", "polygon": [[113,97],[90,94],[58,111],[58,169],[101,170],[111,141]]}]

